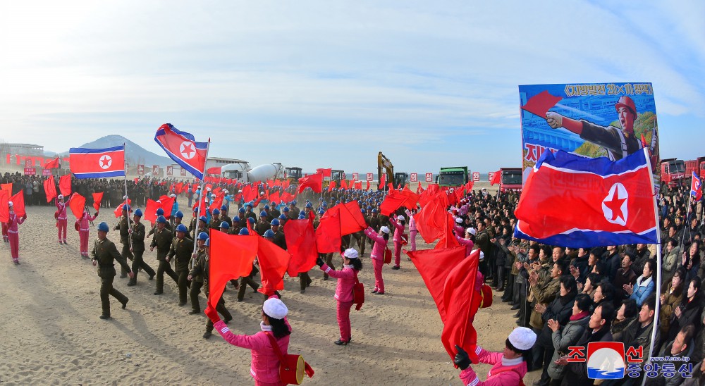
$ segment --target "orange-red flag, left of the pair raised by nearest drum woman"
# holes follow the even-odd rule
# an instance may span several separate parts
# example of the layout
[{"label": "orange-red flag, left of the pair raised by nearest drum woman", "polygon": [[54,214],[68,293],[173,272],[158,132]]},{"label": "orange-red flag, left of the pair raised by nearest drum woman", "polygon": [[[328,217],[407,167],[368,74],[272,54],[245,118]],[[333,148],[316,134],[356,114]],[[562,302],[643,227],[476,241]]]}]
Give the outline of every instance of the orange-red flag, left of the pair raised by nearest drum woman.
[{"label": "orange-red flag, left of the pair raised by nearest drum woman", "polygon": [[209,261],[209,306],[216,308],[229,280],[250,275],[257,255],[257,235],[226,235],[211,233]]}]

